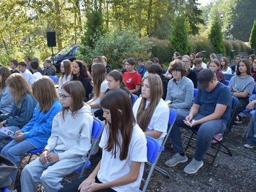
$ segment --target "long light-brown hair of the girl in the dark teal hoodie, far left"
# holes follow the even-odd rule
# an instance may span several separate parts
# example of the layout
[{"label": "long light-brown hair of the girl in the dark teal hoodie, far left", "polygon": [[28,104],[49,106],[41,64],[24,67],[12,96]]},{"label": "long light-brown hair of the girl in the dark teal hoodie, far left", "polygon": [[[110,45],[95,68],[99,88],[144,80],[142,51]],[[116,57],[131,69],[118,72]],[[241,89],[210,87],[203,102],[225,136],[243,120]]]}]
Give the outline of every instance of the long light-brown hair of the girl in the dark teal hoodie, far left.
[{"label": "long light-brown hair of the girl in the dark teal hoodie, far left", "polygon": [[26,79],[19,73],[11,74],[6,79],[6,84],[15,92],[15,94],[12,94],[12,96],[17,107],[20,107],[22,99],[27,94],[32,95],[32,90],[29,87]]}]

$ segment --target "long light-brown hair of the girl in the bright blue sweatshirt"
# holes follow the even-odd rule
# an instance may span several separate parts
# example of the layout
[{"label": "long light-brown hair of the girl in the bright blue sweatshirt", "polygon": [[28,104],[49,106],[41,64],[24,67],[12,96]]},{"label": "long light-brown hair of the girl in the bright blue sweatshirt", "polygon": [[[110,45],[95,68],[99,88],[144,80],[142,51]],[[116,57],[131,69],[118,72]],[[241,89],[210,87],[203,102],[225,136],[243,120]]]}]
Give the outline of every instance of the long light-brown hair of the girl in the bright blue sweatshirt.
[{"label": "long light-brown hair of the girl in the bright blue sweatshirt", "polygon": [[47,113],[53,106],[56,99],[59,99],[53,80],[43,76],[32,85],[32,91],[39,104],[39,111]]}]

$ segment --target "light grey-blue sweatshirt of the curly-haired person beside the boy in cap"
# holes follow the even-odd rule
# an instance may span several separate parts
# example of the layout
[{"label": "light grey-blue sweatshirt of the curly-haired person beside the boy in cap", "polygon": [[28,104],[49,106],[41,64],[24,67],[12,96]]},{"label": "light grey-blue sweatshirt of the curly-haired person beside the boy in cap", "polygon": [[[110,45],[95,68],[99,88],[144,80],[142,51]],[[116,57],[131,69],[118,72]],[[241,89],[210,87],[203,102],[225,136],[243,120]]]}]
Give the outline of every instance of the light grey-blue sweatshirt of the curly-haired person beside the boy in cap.
[{"label": "light grey-blue sweatshirt of the curly-haired person beside the boy in cap", "polygon": [[173,78],[168,83],[165,100],[171,100],[173,108],[190,109],[193,94],[194,85],[189,78],[183,76],[178,83],[176,83],[176,80]]}]

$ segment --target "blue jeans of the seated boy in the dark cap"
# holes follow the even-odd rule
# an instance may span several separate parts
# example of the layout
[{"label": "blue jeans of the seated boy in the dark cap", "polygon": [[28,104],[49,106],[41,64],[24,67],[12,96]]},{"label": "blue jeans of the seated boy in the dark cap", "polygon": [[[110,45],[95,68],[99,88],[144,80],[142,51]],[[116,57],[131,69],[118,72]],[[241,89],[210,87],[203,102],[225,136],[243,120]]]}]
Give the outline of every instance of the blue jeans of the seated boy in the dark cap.
[{"label": "blue jeans of the seated boy in the dark cap", "polygon": [[[214,135],[220,134],[225,131],[226,123],[222,119],[212,120],[201,125],[196,125],[194,127],[189,127],[184,124],[183,120],[186,116],[189,115],[189,112],[177,113],[176,120],[174,122],[173,128],[170,133],[172,143],[174,145],[175,153],[184,153],[182,146],[181,132],[179,127],[189,128],[197,130],[197,139],[196,139],[196,150],[194,154],[194,159],[201,161],[204,158],[205,152],[210,147],[211,139]],[[199,120],[205,116],[197,114],[193,117],[194,120]]]}]

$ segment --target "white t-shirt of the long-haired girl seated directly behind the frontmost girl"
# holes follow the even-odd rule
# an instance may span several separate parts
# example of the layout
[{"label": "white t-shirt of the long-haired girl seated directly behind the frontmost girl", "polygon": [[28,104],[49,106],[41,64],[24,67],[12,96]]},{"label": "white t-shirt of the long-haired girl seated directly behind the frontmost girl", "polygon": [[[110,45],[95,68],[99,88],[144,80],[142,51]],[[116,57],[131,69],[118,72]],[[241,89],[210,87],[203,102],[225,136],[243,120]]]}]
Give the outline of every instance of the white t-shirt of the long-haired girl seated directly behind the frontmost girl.
[{"label": "white t-shirt of the long-haired girl seated directly behind the frontmost girl", "polygon": [[[141,100],[142,100],[142,97],[138,98],[132,108],[133,115],[136,121],[137,121],[137,111],[138,111]],[[148,104],[149,104],[149,101],[146,101],[146,108]],[[168,104],[161,98],[158,105],[155,107],[153,116],[151,117],[151,120],[146,128],[146,132],[152,131],[152,130],[162,132],[161,136],[157,139],[160,146],[162,145],[162,142],[167,132],[169,113],[170,111],[169,111]]]}]

